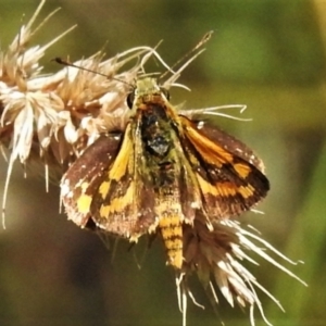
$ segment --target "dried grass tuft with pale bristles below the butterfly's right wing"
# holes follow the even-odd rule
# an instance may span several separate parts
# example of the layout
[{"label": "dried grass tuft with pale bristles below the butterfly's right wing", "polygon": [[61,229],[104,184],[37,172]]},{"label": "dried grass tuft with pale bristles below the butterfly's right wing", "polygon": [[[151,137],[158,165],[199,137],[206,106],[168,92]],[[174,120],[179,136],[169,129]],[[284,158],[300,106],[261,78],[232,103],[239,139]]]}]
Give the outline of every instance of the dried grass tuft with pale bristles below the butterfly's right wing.
[{"label": "dried grass tuft with pale bristles below the butterfly's right wing", "polygon": [[253,310],[256,306],[266,325],[272,325],[264,315],[262,303],[256,289],[269,297],[283,311],[279,301],[265,289],[258,279],[243,266],[243,262],[258,265],[250,256],[252,253],[263,258],[275,267],[289,276],[306,284],[297,275],[277,262],[276,256],[290,264],[297,264],[276,250],[271,243],[262,239],[256,230],[248,230],[238,221],[222,220],[208,226],[203,221],[196,220],[193,227],[184,227],[184,256],[183,271],[176,275],[179,309],[186,325],[187,299],[202,308],[188,287],[188,278],[197,274],[213,305],[218,303],[216,290],[235,306],[249,306],[250,323],[255,325]]}]

